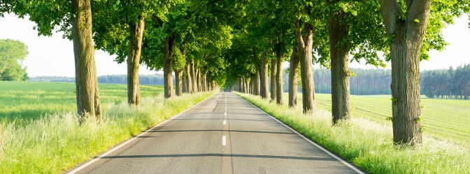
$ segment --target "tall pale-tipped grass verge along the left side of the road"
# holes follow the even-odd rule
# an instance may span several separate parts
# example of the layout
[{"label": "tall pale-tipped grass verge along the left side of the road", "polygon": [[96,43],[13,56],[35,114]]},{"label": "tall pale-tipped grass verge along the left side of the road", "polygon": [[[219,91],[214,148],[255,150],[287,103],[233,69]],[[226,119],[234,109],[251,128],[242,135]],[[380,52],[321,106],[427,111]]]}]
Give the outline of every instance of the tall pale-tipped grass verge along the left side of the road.
[{"label": "tall pale-tipped grass verge along the left side of the road", "polygon": [[59,173],[213,95],[198,93],[171,100],[145,97],[141,106],[124,100],[105,104],[104,121],[78,125],[74,112],[43,113],[18,125],[1,122],[0,173]]}]

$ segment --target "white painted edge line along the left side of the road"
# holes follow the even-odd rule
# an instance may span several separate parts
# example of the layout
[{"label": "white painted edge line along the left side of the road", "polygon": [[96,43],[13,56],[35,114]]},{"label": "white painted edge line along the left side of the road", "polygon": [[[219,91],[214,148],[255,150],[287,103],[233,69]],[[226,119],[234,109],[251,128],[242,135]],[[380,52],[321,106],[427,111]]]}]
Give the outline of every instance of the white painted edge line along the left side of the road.
[{"label": "white painted edge line along the left side of the road", "polygon": [[[214,95],[212,95],[214,96]],[[211,97],[212,97],[211,96]],[[210,97],[206,98],[205,100],[202,100],[201,102],[204,102],[206,100],[208,100]],[[194,106],[197,106],[198,104],[200,104],[201,102],[197,103],[197,104],[194,104]],[[185,111],[187,110],[190,110],[192,109],[194,106],[191,106],[190,108],[186,109]],[[94,159],[92,159],[91,161],[88,161],[87,163],[83,164],[82,166],[79,166],[78,168],[74,169],[73,171],[69,172],[70,174],[73,174],[73,173],[77,173],[78,171],[81,171],[83,168],[87,167],[87,166],[90,166],[91,164],[93,164],[94,162],[98,161],[99,159],[102,159],[103,157],[106,157],[107,155],[111,154],[112,152],[118,150],[119,148],[122,148],[122,146],[124,145],[127,145],[128,143],[131,143],[132,141],[134,141],[135,139],[138,139],[139,137],[147,134],[148,132],[152,131],[153,129],[159,127],[160,125],[163,125],[165,124],[166,122],[169,122],[170,120],[174,120],[176,118],[178,118],[179,116],[181,116],[181,113],[184,113],[185,111],[182,111],[178,114],[176,114],[175,116],[172,116],[171,118],[167,119],[167,120],[164,120],[163,122],[160,122],[158,123],[158,125],[155,125],[154,127],[150,128],[150,129],[147,129],[145,132],[142,132],[141,134],[138,134],[137,136],[134,136],[133,138],[125,141],[124,143],[121,143],[120,145],[116,146],[115,148],[105,152],[103,155],[99,155],[99,157],[96,157]]]}]

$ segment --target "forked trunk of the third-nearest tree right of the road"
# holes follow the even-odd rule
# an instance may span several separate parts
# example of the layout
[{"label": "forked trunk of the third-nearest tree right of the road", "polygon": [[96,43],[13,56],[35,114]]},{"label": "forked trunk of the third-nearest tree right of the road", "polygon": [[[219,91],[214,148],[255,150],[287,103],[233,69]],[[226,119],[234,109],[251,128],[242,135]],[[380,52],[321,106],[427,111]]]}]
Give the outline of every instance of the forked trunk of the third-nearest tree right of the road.
[{"label": "forked trunk of the third-nearest tree right of the road", "polygon": [[313,84],[312,45],[314,26],[304,23],[304,34],[300,31],[300,22],[294,20],[295,35],[297,37],[300,71],[302,81],[302,109],[304,113],[315,111],[315,86]]}]

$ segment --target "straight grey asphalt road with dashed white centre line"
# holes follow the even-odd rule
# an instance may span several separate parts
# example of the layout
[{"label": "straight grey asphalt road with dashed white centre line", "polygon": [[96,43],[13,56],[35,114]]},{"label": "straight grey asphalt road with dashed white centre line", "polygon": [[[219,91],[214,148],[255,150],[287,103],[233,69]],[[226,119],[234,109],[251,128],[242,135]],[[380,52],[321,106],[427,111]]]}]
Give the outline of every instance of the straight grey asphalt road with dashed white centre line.
[{"label": "straight grey asphalt road with dashed white centre line", "polygon": [[72,170],[70,173],[362,173],[233,93],[213,95]]}]

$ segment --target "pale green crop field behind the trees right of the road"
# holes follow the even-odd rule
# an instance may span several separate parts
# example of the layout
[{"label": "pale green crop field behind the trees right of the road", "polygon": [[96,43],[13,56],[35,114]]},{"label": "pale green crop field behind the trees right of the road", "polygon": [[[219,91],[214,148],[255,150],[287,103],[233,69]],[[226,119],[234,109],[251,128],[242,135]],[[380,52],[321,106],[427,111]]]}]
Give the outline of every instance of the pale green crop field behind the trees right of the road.
[{"label": "pale green crop field behind the trees right of the road", "polygon": [[[390,95],[351,95],[352,116],[392,125]],[[318,109],[331,111],[329,94],[315,94]],[[470,143],[470,100],[421,99],[424,134],[438,139]]]}]

